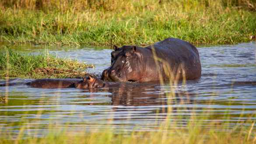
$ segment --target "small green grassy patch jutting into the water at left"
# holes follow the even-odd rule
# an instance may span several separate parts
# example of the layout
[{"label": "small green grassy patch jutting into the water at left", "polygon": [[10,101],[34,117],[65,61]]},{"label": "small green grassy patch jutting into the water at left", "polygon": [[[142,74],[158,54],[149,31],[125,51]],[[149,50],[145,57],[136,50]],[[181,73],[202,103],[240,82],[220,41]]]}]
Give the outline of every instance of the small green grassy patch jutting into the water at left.
[{"label": "small green grassy patch jutting into the water at left", "polygon": [[59,58],[47,50],[35,54],[13,51],[7,46],[0,50],[0,78],[81,78],[89,65],[76,59]]}]

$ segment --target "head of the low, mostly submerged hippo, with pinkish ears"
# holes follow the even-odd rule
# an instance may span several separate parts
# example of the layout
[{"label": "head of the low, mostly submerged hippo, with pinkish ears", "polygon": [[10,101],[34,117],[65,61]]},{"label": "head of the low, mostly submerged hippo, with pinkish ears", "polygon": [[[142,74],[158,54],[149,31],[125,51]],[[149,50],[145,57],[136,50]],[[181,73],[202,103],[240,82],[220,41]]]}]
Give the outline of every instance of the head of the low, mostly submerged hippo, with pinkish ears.
[{"label": "head of the low, mostly submerged hippo, with pinkish ears", "polygon": [[98,79],[96,76],[91,75],[75,83],[74,86],[78,89],[97,88],[103,87],[104,82],[102,82],[102,80]]}]

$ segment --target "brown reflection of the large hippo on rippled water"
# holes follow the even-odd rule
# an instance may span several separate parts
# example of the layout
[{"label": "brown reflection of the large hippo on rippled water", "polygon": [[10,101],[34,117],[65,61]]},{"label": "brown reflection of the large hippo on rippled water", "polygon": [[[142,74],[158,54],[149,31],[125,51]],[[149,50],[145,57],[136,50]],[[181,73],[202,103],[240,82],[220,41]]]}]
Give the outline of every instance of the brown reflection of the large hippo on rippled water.
[{"label": "brown reflection of the large hippo on rippled water", "polygon": [[[182,81],[179,81],[180,83]],[[165,82],[168,84],[168,81]],[[111,104],[113,110],[125,109],[126,111],[131,109],[134,111],[134,107],[119,107],[119,106],[139,106],[136,109],[144,108],[140,106],[160,106],[158,108],[158,113],[167,113],[168,105],[184,105],[184,104],[194,104],[195,102],[192,100],[193,95],[189,95],[186,91],[180,91],[176,89],[176,92],[173,93],[174,96],[170,96],[165,93],[164,89],[161,89],[161,85],[159,82],[151,82],[151,83],[140,83],[136,87],[113,87],[113,88],[96,88],[84,90],[84,96],[95,96],[95,93],[98,92],[107,92],[110,93],[108,96],[111,99],[111,103],[95,103],[91,101],[91,103],[87,103],[89,105],[108,105]],[[91,95],[88,95],[90,94]],[[77,103],[79,104],[79,103]],[[81,103],[84,105],[84,103]],[[155,108],[155,107],[154,107]],[[187,110],[190,108],[186,108]],[[172,106],[172,110],[176,110],[175,106]],[[156,113],[156,111],[151,111],[150,113]]]}]

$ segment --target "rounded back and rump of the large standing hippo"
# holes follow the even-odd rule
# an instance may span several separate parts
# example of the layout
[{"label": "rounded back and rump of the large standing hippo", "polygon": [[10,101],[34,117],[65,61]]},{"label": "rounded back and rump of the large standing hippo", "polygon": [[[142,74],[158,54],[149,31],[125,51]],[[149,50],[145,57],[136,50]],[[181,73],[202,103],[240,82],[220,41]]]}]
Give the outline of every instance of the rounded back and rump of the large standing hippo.
[{"label": "rounded back and rump of the large standing hippo", "polygon": [[193,44],[178,38],[166,38],[146,48],[152,50],[152,47],[157,57],[169,65],[175,77],[177,74],[179,79],[182,79],[183,75],[186,75],[186,79],[201,77],[199,52]]}]

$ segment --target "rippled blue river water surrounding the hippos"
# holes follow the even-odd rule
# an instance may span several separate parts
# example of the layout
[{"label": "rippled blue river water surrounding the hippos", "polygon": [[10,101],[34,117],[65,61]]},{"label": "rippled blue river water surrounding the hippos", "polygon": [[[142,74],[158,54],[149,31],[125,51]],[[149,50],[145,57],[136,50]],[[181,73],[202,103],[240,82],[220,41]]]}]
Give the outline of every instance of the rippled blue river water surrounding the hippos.
[{"label": "rippled blue river water surrounding the hippos", "polygon": [[[7,44],[10,45],[10,44]],[[105,128],[112,123],[115,131],[132,131],[134,127],[151,131],[166,117],[182,116],[185,127],[189,117],[206,117],[221,123],[226,112],[230,123],[220,129],[232,129],[238,120],[248,120],[256,113],[256,44],[197,45],[202,78],[182,80],[170,86],[166,80],[137,83],[134,88],[35,89],[11,86],[8,103],[0,103],[0,133],[17,137],[22,126],[26,134],[47,130],[49,124],[72,130]],[[44,46],[18,44],[13,49],[36,52]],[[47,46],[53,54],[84,60],[95,65],[90,72],[101,73],[110,66],[110,46]],[[166,94],[173,92],[174,95]],[[0,96],[7,89],[0,87]],[[172,113],[168,114],[168,107]],[[244,113],[240,117],[241,113]],[[251,117],[251,120],[255,120]]]}]

